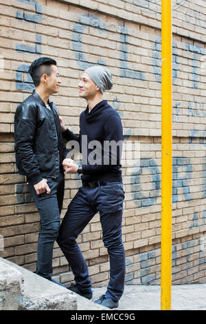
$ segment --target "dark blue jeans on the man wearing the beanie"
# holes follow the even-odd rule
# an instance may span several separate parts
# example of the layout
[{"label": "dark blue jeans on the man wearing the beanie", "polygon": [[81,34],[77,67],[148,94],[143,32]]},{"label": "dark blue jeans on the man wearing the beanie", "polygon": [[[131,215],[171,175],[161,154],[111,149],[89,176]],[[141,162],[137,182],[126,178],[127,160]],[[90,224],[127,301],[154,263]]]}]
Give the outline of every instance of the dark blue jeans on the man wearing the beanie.
[{"label": "dark blue jeans on the man wearing the beanie", "polygon": [[87,263],[76,239],[93,216],[100,212],[102,239],[110,256],[110,281],[106,294],[115,301],[118,301],[124,292],[123,201],[124,188],[120,182],[108,183],[97,188],[81,187],[68,206],[57,239],[71,266],[76,285],[82,292],[90,292],[91,281]]}]

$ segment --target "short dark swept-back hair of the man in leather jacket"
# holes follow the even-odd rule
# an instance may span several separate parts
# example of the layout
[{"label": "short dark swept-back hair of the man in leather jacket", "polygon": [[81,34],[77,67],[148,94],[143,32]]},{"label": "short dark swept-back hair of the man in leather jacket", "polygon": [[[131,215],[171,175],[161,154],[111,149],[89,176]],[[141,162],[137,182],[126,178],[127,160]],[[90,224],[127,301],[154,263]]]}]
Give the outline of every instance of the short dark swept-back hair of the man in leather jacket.
[{"label": "short dark swept-back hair of the man in leather jacket", "polygon": [[41,76],[45,73],[50,75],[52,73],[51,65],[56,65],[56,61],[50,57],[40,57],[30,65],[28,72],[32,77],[35,87],[40,84]]}]

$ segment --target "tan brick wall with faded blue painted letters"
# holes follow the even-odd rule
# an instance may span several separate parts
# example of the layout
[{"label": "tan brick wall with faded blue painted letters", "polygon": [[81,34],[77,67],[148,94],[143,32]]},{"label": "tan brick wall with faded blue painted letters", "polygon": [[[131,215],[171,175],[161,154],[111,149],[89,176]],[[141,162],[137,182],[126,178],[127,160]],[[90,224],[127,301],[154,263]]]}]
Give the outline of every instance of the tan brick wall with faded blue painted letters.
[{"label": "tan brick wall with faded blue painted letters", "polygon": [[[195,4],[195,6],[194,6]],[[126,283],[160,283],[161,242],[161,1],[0,0],[0,229],[1,256],[36,270],[39,216],[16,170],[14,112],[33,90],[27,68],[54,57],[62,84],[52,100],[73,132],[86,101],[78,79],[90,64],[105,64],[114,87],[104,98],[124,126],[125,143],[139,143],[140,163],[124,163],[123,239]],[[173,1],[172,281],[206,282],[205,1]],[[67,175],[67,205],[80,178]],[[78,238],[91,281],[105,285],[109,263],[99,215]],[[54,274],[73,281],[55,243]]]}]

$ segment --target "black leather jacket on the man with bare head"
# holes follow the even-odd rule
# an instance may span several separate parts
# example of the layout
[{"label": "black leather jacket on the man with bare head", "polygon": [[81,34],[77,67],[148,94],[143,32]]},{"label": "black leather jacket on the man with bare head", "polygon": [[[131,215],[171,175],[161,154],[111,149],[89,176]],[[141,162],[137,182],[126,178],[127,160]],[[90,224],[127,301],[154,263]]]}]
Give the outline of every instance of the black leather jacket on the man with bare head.
[{"label": "black leather jacket on the man with bare head", "polygon": [[14,117],[14,150],[19,174],[35,184],[44,177],[56,179],[64,172],[62,161],[67,155],[56,105],[51,110],[34,91],[18,105]]}]

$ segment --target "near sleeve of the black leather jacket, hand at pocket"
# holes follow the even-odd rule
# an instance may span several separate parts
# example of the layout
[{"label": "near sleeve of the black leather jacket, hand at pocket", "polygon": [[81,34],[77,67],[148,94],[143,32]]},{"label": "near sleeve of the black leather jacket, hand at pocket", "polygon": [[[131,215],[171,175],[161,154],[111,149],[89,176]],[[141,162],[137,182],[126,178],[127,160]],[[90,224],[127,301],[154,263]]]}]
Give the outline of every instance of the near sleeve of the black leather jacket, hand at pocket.
[{"label": "near sleeve of the black leather jacket, hand at pocket", "polygon": [[[16,164],[21,172],[30,177],[32,184],[43,179],[38,167],[38,161],[33,152],[34,136],[36,132],[36,110],[32,104],[19,105],[14,117],[14,150]],[[17,163],[18,161],[18,163]]]}]

